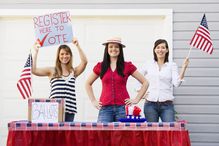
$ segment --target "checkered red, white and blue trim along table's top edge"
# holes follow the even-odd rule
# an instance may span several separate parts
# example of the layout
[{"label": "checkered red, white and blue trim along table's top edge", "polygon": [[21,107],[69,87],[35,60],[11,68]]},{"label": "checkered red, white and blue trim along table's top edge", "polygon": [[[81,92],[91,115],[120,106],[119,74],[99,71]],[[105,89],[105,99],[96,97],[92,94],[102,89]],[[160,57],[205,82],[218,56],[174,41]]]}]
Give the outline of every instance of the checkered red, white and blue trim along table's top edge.
[{"label": "checkered red, white and blue trim along table's top edge", "polygon": [[96,122],[59,122],[59,123],[32,123],[30,121],[13,121],[8,123],[10,131],[19,130],[186,130],[186,123],[181,122],[144,122],[144,123],[96,123]]}]

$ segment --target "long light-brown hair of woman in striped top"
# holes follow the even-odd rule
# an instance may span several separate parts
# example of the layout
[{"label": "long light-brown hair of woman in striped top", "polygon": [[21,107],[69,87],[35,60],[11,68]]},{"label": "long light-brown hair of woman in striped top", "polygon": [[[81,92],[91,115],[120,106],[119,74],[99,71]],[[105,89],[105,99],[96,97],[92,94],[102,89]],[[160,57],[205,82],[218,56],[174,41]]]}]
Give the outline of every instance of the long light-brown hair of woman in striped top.
[{"label": "long light-brown hair of woman in striped top", "polygon": [[73,67],[72,67],[73,55],[72,55],[72,51],[71,51],[70,47],[67,45],[60,45],[58,50],[57,50],[57,54],[56,54],[55,72],[53,75],[53,77],[55,77],[55,78],[60,78],[62,76],[62,73],[63,73],[62,67],[61,67],[61,62],[59,60],[59,54],[60,54],[61,50],[65,50],[66,52],[68,52],[70,54],[71,57],[70,57],[70,60],[66,66],[67,66],[67,70],[69,71],[69,73],[73,70]]}]

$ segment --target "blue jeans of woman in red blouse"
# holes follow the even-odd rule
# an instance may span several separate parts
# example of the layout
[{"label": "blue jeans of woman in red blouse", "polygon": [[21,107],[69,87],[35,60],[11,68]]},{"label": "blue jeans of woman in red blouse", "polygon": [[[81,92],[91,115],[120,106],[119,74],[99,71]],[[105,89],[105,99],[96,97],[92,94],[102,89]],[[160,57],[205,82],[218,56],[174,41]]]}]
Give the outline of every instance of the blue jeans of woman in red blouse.
[{"label": "blue jeans of woman in red blouse", "polygon": [[103,106],[98,115],[97,122],[118,122],[120,118],[125,118],[125,106],[109,105]]}]

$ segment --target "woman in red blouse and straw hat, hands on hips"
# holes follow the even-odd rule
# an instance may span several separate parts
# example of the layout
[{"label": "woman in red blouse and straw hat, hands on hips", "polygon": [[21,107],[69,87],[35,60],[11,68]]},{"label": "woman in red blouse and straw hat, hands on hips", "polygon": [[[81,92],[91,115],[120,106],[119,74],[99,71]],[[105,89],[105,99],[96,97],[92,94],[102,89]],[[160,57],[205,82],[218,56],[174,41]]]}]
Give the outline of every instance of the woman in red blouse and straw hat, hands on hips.
[{"label": "woman in red blouse and straw hat, hands on hips", "polygon": [[[87,94],[99,110],[98,122],[116,122],[125,118],[125,105],[137,104],[148,88],[148,82],[131,62],[124,61],[123,48],[120,38],[112,38],[103,43],[104,58],[97,63],[86,82]],[[136,78],[142,87],[134,99],[130,99],[126,84],[129,76]],[[102,92],[100,101],[93,93],[92,84],[100,77]]]}]

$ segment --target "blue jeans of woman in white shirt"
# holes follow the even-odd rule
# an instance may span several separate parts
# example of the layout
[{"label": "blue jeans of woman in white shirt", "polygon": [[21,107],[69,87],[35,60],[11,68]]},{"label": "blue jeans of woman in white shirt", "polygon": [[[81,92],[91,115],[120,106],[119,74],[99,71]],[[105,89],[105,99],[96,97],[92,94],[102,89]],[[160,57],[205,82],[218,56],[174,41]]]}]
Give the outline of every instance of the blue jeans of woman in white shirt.
[{"label": "blue jeans of woman in white shirt", "polygon": [[148,122],[174,122],[175,112],[172,102],[150,102],[144,104],[144,115]]}]

